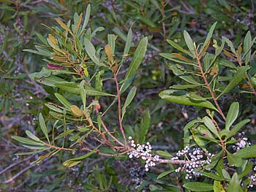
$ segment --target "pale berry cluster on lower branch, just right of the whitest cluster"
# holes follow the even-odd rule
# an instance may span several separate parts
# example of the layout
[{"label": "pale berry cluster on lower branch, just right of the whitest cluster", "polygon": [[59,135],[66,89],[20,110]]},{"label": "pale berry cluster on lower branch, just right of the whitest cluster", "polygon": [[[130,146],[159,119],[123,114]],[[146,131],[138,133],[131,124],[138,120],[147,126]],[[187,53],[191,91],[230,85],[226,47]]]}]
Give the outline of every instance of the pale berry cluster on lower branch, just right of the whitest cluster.
[{"label": "pale berry cluster on lower branch, just right of the whitest cluster", "polygon": [[192,179],[192,176],[200,176],[200,173],[195,172],[195,169],[203,169],[203,166],[206,164],[211,164],[211,158],[214,155],[211,153],[204,152],[200,147],[194,148],[189,152],[189,147],[185,147],[184,150],[179,150],[178,153],[176,153],[176,156],[171,158],[173,161],[178,160],[179,157],[185,157],[186,160],[189,162],[187,164],[184,164],[184,166],[178,167],[176,169],[176,172],[181,172],[182,170],[186,172],[185,179]]}]

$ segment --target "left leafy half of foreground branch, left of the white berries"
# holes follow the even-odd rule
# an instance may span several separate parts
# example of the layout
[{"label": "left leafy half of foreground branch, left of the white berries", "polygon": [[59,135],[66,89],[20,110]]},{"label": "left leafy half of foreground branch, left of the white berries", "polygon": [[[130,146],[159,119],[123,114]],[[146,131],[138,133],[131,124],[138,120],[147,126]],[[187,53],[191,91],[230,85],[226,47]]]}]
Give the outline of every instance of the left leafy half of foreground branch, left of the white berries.
[{"label": "left leafy half of foreground branch, left of the white berries", "polygon": [[[104,28],[98,27],[92,31],[87,26],[90,10],[89,5],[85,17],[75,13],[74,20],[69,20],[68,23],[56,18],[58,27],[45,26],[50,31],[47,38],[37,34],[41,44],[35,45],[36,50],[23,50],[45,56],[46,66],[29,77],[44,85],[51,98],[50,102],[45,103],[48,108],[44,109],[46,112],[40,112],[38,115],[42,137],[29,130],[26,131],[29,139],[12,137],[23,147],[34,150],[18,155],[43,154],[34,163],[39,164],[45,158],[61,151],[72,155],[84,152],[79,157],[64,161],[63,165],[70,168],[94,153],[117,157],[135,150],[129,145],[132,142],[127,141],[128,136],[122,121],[137,90],[135,86],[130,87],[146,53],[148,38],[141,39],[135,47],[132,44],[130,28],[122,53],[116,52],[116,35],[108,34],[108,42],[100,45],[97,42],[97,33]],[[131,47],[135,47],[134,53],[129,51]],[[124,77],[121,77],[119,73],[122,66],[127,66],[125,61],[129,57],[132,57],[132,60],[124,71]],[[111,93],[113,85],[116,87],[115,93]],[[127,96],[122,104],[121,95],[124,94]],[[106,105],[108,107],[102,107]],[[111,122],[110,127],[106,123],[105,114],[116,105],[118,123],[108,120]],[[44,116],[48,120],[45,120]],[[138,138],[141,142],[144,142],[149,128],[149,112],[144,116]]]}]

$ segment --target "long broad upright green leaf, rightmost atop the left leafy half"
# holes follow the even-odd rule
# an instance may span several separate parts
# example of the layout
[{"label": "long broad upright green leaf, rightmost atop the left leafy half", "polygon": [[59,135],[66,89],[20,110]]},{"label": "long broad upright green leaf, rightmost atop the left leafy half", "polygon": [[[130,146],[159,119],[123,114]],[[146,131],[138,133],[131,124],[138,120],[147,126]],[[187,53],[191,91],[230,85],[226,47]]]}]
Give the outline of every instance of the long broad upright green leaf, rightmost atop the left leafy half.
[{"label": "long broad upright green leaf, rightmost atop the left leafy half", "polygon": [[[143,39],[140,40],[140,43],[139,43],[138,47],[135,50],[135,55],[132,58],[132,62],[129,65],[128,72],[124,77],[124,83],[127,80],[129,80],[130,77],[135,76],[141,62],[143,61],[144,55],[146,53],[147,45],[148,45],[148,38],[147,37],[144,37]],[[124,85],[124,83],[123,83],[123,85]]]}]

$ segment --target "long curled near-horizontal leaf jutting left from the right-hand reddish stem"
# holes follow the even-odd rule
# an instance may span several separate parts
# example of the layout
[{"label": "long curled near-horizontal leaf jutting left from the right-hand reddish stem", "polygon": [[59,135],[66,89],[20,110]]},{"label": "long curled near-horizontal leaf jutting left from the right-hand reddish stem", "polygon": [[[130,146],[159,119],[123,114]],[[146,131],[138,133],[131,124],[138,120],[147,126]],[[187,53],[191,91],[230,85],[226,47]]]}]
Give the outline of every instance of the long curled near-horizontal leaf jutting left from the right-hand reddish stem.
[{"label": "long curled near-horizontal leaf jutting left from the right-hand reddish stem", "polygon": [[187,96],[187,93],[184,93],[184,91],[165,90],[159,93],[159,97],[167,101],[174,102],[176,104],[206,107],[206,108],[218,111],[216,107],[214,107],[214,105],[211,104],[210,101],[207,101],[206,99],[204,101],[193,100],[189,98],[189,96]]}]

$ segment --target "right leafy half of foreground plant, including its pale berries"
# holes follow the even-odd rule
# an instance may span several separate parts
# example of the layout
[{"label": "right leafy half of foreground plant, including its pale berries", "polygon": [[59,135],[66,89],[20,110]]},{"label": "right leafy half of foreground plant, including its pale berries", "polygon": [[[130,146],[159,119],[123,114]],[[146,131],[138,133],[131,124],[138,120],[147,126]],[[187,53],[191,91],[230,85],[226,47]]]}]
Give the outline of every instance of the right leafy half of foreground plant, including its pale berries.
[{"label": "right leafy half of foreground plant, including its pale berries", "polygon": [[[256,38],[252,39],[248,31],[237,48],[227,37],[219,38],[221,45],[214,39],[212,45],[216,26],[217,23],[211,26],[199,45],[184,31],[188,50],[167,40],[178,53],[160,53],[170,61],[169,69],[184,83],[170,86],[159,96],[206,111],[184,126],[184,149],[171,159],[187,161],[175,171],[184,178],[183,187],[188,191],[250,191],[255,185],[256,145],[241,131],[250,120],[238,120],[239,100],[225,101],[226,104],[222,100],[225,96],[231,98],[231,94],[255,98],[252,46]],[[173,170],[159,177],[170,172]]]}]

